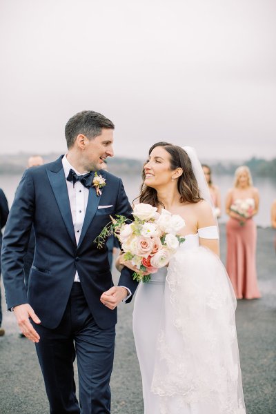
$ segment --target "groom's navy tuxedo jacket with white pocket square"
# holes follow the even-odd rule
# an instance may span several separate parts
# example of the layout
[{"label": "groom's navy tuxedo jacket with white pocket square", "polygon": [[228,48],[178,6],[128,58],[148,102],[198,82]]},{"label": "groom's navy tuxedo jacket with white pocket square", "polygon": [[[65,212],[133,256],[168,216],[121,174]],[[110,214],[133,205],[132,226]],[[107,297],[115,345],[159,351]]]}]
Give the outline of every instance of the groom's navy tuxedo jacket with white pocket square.
[{"label": "groom's navy tuxedo jacket with white pocket square", "polygon": [[[56,328],[77,270],[95,322],[100,328],[108,328],[117,322],[117,309],[111,311],[99,300],[103,291],[113,286],[108,249],[106,246],[97,248],[94,240],[110,221],[110,215],[130,217],[132,209],[121,179],[100,170],[99,174],[106,178],[106,186],[101,188],[99,196],[94,187],[89,189],[86,215],[76,244],[61,159],[62,156],[50,164],[26,170],[17,188],[1,255],[8,308],[29,303],[43,326]],[[27,298],[23,257],[32,224],[36,246]],[[119,284],[135,292],[137,282],[132,279],[132,270],[122,270]]]}]

